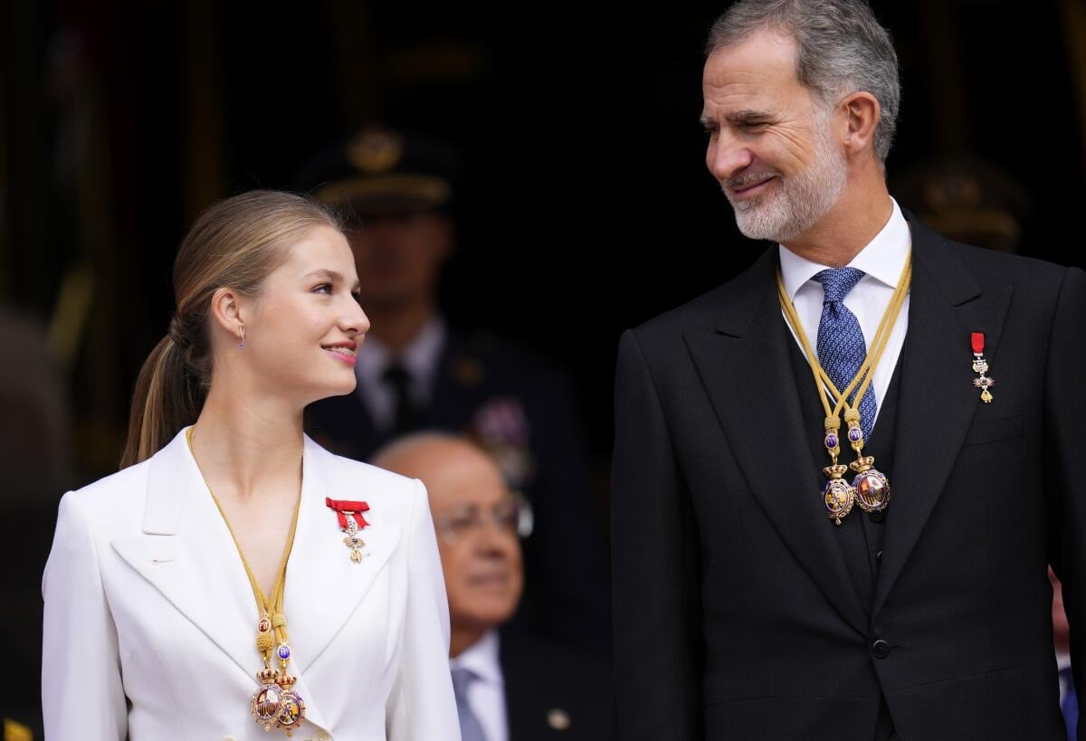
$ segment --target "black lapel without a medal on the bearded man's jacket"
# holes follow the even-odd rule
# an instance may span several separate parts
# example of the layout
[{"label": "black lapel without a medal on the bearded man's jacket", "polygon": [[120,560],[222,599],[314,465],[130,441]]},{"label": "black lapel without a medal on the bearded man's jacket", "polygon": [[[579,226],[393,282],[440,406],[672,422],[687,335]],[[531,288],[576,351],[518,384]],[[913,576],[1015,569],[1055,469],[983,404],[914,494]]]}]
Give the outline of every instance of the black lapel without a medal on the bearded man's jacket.
[{"label": "black lapel without a medal on the bearded man's jacket", "polygon": [[[683,332],[749,489],[796,558],[861,635],[868,618],[834,540],[788,357],[793,341],[776,298],[776,247],[723,293],[715,330]],[[813,381],[811,381],[813,384]],[[736,482],[740,485],[740,482]]]}]

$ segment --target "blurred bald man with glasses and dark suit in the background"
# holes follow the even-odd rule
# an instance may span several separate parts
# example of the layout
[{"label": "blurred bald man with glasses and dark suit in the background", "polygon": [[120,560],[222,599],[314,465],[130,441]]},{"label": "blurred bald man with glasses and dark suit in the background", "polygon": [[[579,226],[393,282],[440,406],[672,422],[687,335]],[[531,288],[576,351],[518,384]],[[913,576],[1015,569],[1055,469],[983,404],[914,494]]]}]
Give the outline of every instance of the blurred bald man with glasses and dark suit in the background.
[{"label": "blurred bald man with glasses and dark suit in the background", "polygon": [[372,462],[421,479],[430,494],[464,741],[615,738],[607,666],[506,627],[525,583],[527,520],[493,460],[467,440],[422,432]]}]

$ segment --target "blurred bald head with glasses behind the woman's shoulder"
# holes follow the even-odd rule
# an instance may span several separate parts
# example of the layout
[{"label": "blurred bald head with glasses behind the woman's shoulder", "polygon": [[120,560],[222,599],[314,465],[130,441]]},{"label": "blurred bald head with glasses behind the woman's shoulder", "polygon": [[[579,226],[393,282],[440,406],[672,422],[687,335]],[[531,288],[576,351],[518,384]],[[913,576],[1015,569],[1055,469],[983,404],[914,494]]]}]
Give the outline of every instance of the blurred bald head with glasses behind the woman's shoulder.
[{"label": "blurred bald head with glasses behind the woman's shoulder", "polygon": [[421,479],[430,495],[449,594],[452,654],[512,617],[523,590],[516,502],[501,469],[471,442],[419,432],[370,461]]}]

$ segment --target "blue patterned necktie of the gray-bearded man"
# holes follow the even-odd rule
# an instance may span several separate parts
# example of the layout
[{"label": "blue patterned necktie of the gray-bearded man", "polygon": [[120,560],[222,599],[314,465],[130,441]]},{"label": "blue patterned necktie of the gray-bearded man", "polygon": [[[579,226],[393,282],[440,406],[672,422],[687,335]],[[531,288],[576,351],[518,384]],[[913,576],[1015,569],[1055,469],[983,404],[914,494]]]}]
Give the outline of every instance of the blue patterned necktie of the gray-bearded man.
[{"label": "blue patterned necktie of the gray-bearded man", "polygon": [[[815,279],[822,284],[824,298],[822,299],[822,318],[818,325],[818,359],[830,380],[837,387],[838,391],[844,391],[851,381],[856,372],[863,364],[863,359],[868,355],[867,344],[863,342],[863,331],[856,315],[848,311],[845,305],[845,296],[856,287],[856,284],[863,277],[863,271],[855,267],[836,267],[822,271],[815,276]],[[874,373],[871,368],[869,373]],[[854,403],[856,387],[849,403]],[[871,427],[875,420],[874,385],[868,387],[863,399],[860,400],[860,427],[863,429],[863,439],[871,439]]]}]

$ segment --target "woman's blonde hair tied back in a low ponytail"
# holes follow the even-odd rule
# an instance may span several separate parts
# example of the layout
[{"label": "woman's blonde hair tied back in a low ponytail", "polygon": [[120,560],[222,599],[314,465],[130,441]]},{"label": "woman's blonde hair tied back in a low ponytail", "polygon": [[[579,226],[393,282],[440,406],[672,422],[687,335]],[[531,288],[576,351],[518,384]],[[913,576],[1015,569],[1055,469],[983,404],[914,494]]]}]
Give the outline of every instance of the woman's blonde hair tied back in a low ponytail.
[{"label": "woman's blonde hair tied back in a low ponytail", "polygon": [[200,214],[174,263],[177,309],[169,331],[136,381],[122,468],[151,457],[200,416],[212,380],[207,314],[215,291],[258,296],[290,244],[320,226],[342,231],[328,208],[276,190],[251,190]]}]

